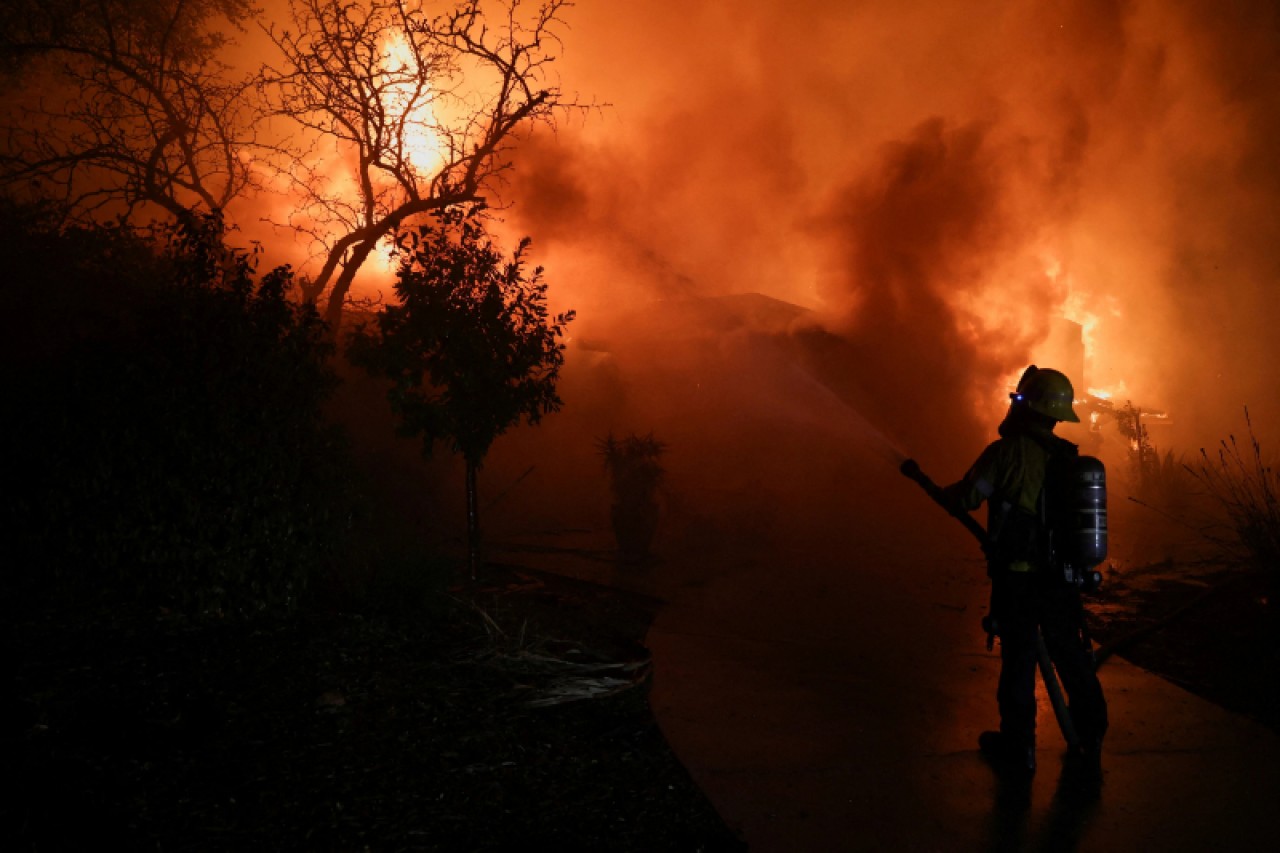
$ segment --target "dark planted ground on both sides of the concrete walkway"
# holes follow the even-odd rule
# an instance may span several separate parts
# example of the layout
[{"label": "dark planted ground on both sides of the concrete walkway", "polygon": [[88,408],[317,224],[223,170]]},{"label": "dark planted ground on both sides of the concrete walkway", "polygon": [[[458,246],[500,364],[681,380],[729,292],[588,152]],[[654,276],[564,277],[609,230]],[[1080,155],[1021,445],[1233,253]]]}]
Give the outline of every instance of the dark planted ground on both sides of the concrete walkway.
[{"label": "dark planted ground on both sides of the concrete walkway", "polygon": [[[1098,643],[1280,730],[1267,575],[1111,576]],[[426,611],[9,626],[5,849],[739,849],[667,747],[659,602],[511,567]],[[616,690],[554,704],[563,690]],[[87,847],[86,847],[87,845]]]}]

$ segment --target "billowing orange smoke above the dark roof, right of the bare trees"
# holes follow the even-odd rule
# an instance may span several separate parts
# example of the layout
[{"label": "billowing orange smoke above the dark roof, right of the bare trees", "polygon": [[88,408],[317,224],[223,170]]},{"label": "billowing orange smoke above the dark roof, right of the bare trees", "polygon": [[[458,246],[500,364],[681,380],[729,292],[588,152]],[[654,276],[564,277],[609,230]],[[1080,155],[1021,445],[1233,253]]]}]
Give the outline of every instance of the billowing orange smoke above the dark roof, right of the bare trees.
[{"label": "billowing orange smoke above the dark roof, right of the bare trees", "polygon": [[1245,403],[1280,423],[1274,5],[581,3],[570,23],[562,82],[611,105],[530,140],[506,197],[582,334],[655,300],[801,305],[823,380],[948,462],[1020,368],[1062,359],[1064,318],[1079,389],[1166,410],[1161,443],[1211,443]]}]

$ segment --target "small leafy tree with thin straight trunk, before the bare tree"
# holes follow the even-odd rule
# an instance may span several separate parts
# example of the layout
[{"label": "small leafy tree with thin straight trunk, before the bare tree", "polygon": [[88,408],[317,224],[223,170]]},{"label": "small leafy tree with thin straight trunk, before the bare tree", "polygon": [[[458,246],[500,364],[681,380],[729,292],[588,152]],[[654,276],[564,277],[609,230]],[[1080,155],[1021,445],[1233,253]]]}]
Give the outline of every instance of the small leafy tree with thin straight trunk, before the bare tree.
[{"label": "small leafy tree with thin straight trunk, before the bare tree", "polygon": [[408,251],[388,305],[352,334],[353,361],[392,380],[388,400],[404,434],[436,442],[466,462],[467,564],[475,578],[480,525],[476,471],[494,439],[522,420],[558,411],[556,393],[573,311],[552,316],[543,269],[526,275],[524,238],[511,260],[475,209],[439,211],[406,236]]}]

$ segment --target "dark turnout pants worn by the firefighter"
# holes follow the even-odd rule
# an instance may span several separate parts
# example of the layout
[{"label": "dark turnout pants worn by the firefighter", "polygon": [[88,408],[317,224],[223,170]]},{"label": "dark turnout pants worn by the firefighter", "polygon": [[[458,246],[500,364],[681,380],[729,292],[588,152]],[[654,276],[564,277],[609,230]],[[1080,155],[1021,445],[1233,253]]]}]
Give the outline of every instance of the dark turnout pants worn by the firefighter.
[{"label": "dark turnout pants worn by the firefighter", "polygon": [[1071,722],[1083,744],[1098,744],[1107,730],[1107,702],[1084,640],[1080,593],[1047,578],[1050,573],[997,570],[992,613],[1000,628],[1000,731],[1010,744],[1036,743],[1036,631],[1044,637],[1053,669],[1066,690]]}]

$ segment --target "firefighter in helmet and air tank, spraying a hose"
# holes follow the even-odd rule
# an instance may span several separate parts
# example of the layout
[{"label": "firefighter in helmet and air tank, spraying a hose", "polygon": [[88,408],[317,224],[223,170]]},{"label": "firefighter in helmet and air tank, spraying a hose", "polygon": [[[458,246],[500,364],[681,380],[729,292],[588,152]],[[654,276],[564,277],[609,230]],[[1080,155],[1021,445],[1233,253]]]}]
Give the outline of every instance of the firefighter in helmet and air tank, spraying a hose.
[{"label": "firefighter in helmet and air tank, spraying a hose", "polygon": [[[1000,637],[1000,729],[983,731],[978,745],[997,765],[1029,772],[1036,770],[1041,637],[1070,699],[1074,752],[1097,762],[1107,730],[1107,703],[1094,672],[1080,602],[1082,583],[1097,576],[1082,569],[1096,565],[1106,553],[1105,491],[1101,521],[1098,514],[1093,520],[1074,514],[1084,517],[1083,530],[1055,529],[1055,507],[1047,506],[1056,502],[1061,517],[1062,488],[1055,488],[1055,483],[1073,475],[1076,460],[1094,466],[1083,469],[1085,488],[1105,489],[1105,482],[1097,460],[1080,457],[1075,444],[1053,434],[1060,421],[1079,421],[1071,409],[1071,383],[1062,373],[1032,365],[1010,398],[1000,438],[959,483],[943,489],[943,497],[963,511],[986,502],[988,512],[986,551],[992,596],[987,626]],[[1056,473],[1064,469],[1066,474]]]}]

